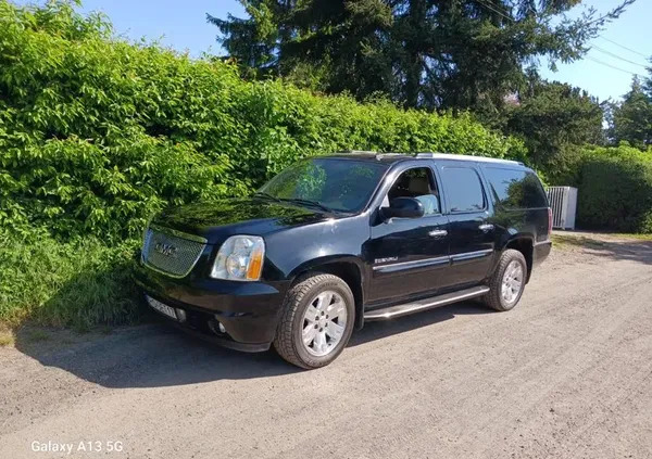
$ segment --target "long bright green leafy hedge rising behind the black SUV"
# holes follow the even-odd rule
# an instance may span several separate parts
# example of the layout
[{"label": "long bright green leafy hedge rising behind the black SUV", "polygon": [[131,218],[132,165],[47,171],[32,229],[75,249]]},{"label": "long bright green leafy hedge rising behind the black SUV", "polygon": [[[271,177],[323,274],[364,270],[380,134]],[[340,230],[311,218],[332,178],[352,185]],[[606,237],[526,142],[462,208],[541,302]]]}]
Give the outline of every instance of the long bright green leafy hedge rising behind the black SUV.
[{"label": "long bright green leafy hedge rising behind the black SUV", "polygon": [[66,2],[0,0],[0,226],[115,244],[168,203],[249,193],[296,160],[344,150],[523,157],[469,116],[242,81],[112,36]]}]

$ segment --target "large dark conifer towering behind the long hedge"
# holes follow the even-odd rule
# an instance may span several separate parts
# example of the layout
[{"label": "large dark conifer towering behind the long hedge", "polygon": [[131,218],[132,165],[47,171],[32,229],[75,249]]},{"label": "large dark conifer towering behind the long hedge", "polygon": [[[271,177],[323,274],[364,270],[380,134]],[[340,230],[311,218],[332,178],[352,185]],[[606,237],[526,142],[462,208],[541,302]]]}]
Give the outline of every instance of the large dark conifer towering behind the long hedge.
[{"label": "large dark conifer towering behind the long hedge", "polygon": [[[209,15],[223,46],[254,75],[292,78],[408,107],[500,110],[541,56],[570,62],[605,22],[570,20],[581,0],[241,0],[249,18]],[[306,82],[310,81],[310,82]]]}]

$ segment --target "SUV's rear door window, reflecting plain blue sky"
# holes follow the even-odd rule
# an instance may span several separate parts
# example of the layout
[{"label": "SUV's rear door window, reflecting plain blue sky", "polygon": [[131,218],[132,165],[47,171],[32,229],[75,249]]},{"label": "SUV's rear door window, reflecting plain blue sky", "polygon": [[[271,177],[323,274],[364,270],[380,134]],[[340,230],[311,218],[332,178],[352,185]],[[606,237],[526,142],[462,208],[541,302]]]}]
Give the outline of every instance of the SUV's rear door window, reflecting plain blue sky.
[{"label": "SUV's rear door window, reflecting plain blue sky", "polygon": [[482,183],[474,169],[444,167],[441,179],[451,212],[477,212],[485,208]]}]

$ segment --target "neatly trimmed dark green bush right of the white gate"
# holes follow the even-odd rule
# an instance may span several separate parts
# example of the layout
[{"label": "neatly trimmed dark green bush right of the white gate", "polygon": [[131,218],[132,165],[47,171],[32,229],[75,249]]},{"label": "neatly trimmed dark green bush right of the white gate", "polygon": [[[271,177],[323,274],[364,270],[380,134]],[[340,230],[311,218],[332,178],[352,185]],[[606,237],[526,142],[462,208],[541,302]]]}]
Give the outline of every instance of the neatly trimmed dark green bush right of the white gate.
[{"label": "neatly trimmed dark green bush right of the white gate", "polygon": [[578,224],[652,233],[651,153],[626,144],[586,151],[579,168]]}]

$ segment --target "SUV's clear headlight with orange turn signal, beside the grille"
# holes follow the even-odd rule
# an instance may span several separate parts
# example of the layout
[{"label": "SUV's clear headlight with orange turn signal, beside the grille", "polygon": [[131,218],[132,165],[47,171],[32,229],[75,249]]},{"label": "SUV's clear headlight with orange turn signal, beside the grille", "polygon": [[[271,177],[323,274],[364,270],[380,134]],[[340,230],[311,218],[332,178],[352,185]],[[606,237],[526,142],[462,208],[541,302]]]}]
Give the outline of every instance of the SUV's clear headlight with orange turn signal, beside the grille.
[{"label": "SUV's clear headlight with orange turn signal, beside the grille", "polygon": [[217,252],[211,270],[214,279],[253,281],[261,278],[265,242],[260,235],[231,235]]}]

